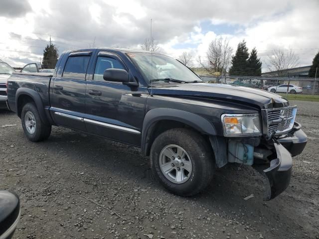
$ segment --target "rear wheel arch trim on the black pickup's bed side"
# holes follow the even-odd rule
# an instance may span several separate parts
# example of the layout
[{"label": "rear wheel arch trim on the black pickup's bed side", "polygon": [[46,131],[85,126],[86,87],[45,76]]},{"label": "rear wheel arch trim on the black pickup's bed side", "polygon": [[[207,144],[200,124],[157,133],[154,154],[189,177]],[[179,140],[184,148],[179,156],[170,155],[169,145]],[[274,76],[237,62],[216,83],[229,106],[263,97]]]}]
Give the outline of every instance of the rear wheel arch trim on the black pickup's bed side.
[{"label": "rear wheel arch trim on the black pickup's bed side", "polygon": [[41,100],[40,95],[36,91],[31,90],[29,88],[17,89],[15,94],[15,109],[16,114],[19,118],[21,118],[23,106],[27,103],[34,103],[39,112],[42,122],[44,122],[45,124],[50,124],[45,114],[43,102]]}]

